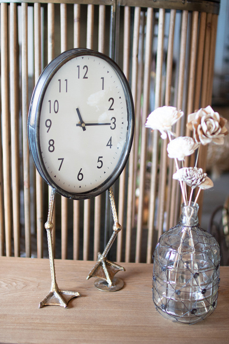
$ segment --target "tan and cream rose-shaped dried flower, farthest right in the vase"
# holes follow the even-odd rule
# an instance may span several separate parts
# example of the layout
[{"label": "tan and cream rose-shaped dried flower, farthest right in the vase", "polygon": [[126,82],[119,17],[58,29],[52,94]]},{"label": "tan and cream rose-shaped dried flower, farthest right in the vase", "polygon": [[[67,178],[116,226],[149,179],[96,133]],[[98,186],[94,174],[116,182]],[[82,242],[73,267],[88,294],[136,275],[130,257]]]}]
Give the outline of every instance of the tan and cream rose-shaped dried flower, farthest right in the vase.
[{"label": "tan and cream rose-shaped dried flower, farthest right in the vase", "polygon": [[209,106],[201,108],[193,114],[188,115],[187,128],[193,130],[196,142],[206,145],[209,142],[216,144],[224,143],[224,136],[228,134],[225,127],[227,120],[220,117],[218,112]]}]

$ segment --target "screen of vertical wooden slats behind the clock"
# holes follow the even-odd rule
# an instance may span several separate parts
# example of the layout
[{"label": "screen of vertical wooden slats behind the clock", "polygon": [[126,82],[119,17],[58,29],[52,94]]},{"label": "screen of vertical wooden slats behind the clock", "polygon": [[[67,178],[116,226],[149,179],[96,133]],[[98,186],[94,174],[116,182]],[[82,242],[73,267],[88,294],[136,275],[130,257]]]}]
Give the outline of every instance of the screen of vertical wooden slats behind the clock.
[{"label": "screen of vertical wooden slats behind the clock", "polygon": [[[55,2],[0,4],[0,255],[48,255],[50,189],[28,150],[28,107],[43,68],[67,49],[87,47],[119,64],[135,105],[129,161],[113,186],[122,230],[109,257],[151,262],[158,237],[178,221],[181,195],[167,142],[145,122],[159,106],[187,116],[211,104],[219,1],[189,8],[179,0]],[[185,123],[174,128],[178,135],[189,134]],[[107,193],[85,201],[57,196],[55,257],[97,259],[112,233],[110,212]]]}]

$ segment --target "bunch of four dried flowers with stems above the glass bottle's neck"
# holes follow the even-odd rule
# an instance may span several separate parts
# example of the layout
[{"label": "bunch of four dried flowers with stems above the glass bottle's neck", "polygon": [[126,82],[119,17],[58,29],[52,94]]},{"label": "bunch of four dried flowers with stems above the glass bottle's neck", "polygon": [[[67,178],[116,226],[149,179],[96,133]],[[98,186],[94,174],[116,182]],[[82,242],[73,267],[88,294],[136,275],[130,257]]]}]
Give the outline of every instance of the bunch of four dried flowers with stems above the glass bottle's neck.
[{"label": "bunch of four dried flowers with stems above the glass bottle's neck", "polygon": [[[175,160],[177,170],[177,172],[173,174],[173,179],[178,179],[180,181],[185,205],[190,205],[193,191],[195,187],[199,187],[194,201],[195,205],[199,192],[202,189],[208,189],[213,186],[213,182],[207,177],[207,173],[204,173],[202,169],[196,167],[199,147],[201,144],[206,145],[209,142],[223,144],[224,136],[228,134],[225,127],[227,120],[220,117],[218,112],[214,112],[210,106],[201,108],[193,114],[188,115],[186,126],[188,129],[193,130],[193,138],[185,136],[177,137],[172,140],[171,136],[175,136],[172,132],[172,126],[183,116],[183,114],[183,111],[177,111],[177,109],[172,106],[157,108],[148,116],[146,127],[152,130],[159,130],[162,139],[167,139],[168,136],[170,141],[167,146],[168,156]],[[193,154],[197,148],[195,166],[179,169],[177,160],[183,163],[185,157]],[[189,202],[187,200],[186,185],[192,187]]]}]

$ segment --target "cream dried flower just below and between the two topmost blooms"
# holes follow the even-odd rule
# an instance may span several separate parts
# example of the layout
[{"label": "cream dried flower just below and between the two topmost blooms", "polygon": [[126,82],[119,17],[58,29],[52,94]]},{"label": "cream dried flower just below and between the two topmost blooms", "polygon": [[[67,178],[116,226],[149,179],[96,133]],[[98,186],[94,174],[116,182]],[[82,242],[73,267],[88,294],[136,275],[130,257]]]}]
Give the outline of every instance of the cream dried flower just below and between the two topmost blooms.
[{"label": "cream dried flower just below and between the two topmost blooms", "polygon": [[185,157],[194,153],[199,147],[193,138],[189,136],[179,136],[168,143],[168,157],[172,159],[184,160]]}]

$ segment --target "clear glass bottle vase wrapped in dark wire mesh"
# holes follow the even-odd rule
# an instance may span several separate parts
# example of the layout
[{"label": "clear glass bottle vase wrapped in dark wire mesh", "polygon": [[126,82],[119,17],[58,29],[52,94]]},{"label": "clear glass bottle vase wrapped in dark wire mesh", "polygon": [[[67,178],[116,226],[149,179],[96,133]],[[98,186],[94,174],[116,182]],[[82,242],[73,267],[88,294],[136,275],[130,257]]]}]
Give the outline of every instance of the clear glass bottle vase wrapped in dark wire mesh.
[{"label": "clear glass bottle vase wrapped in dark wire mesh", "polygon": [[193,324],[216,308],[220,252],[200,228],[198,204],[181,205],[179,224],[159,238],[153,255],[153,302],[165,318]]}]

